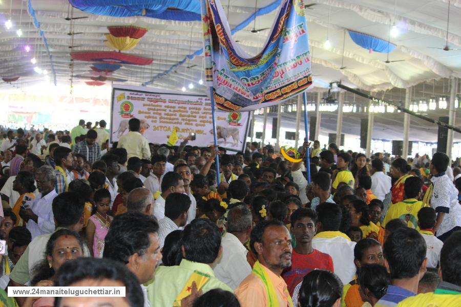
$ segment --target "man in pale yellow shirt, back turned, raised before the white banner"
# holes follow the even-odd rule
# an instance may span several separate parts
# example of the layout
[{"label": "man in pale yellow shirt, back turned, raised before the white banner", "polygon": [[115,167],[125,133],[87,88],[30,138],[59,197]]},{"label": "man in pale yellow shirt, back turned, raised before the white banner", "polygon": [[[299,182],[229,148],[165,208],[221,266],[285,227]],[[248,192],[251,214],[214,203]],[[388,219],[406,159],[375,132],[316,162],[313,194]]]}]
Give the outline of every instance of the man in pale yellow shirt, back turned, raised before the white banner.
[{"label": "man in pale yellow shirt, back turned, raised before the white banner", "polygon": [[137,118],[128,121],[130,132],[118,139],[118,148],[125,148],[128,152],[128,159],[138,157],[141,159],[151,158],[149,142],[139,133],[141,122]]}]

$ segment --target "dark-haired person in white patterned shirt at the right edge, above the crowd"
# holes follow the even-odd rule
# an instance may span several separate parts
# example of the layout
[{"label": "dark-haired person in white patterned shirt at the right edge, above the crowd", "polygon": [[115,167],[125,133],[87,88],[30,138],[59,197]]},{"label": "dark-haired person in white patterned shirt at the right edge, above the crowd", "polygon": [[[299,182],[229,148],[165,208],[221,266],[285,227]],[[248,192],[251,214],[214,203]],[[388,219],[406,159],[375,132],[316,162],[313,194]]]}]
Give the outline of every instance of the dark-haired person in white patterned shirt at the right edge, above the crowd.
[{"label": "dark-haired person in white patterned shirt at the right edge, above the crowd", "polygon": [[461,206],[458,203],[458,189],[447,176],[450,158],[443,152],[435,152],[429,170],[434,186],[431,207],[437,213],[434,232],[437,238],[445,241],[454,231],[461,229]]}]

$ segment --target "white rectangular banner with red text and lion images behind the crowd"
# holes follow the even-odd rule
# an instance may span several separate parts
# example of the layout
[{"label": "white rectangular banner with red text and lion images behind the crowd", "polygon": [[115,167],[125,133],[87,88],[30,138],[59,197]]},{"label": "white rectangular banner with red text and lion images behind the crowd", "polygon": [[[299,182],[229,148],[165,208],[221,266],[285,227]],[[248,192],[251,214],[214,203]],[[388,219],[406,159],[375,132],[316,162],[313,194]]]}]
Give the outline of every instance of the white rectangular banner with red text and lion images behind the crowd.
[{"label": "white rectangular banner with red text and lion images behind the crowd", "polygon": [[[150,142],[166,144],[176,129],[179,145],[191,133],[187,144],[205,147],[214,144],[211,102],[205,95],[127,85],[113,85],[110,142],[127,134],[128,121],[141,121],[140,133]],[[248,112],[216,113],[218,145],[243,151],[248,129]]]}]

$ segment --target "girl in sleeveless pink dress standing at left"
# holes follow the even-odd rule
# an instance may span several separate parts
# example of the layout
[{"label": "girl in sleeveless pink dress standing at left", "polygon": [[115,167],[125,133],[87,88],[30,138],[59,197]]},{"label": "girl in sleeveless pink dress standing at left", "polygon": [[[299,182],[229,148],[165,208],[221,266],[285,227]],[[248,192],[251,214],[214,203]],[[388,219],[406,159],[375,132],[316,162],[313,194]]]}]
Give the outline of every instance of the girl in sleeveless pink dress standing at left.
[{"label": "girl in sleeveless pink dress standing at left", "polygon": [[85,232],[90,253],[95,258],[102,258],[104,238],[112,222],[112,216],[107,214],[110,210],[111,194],[107,189],[99,189],[94,193],[93,199],[96,213],[90,216]]}]

